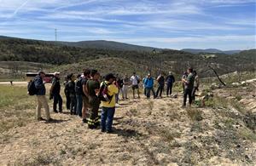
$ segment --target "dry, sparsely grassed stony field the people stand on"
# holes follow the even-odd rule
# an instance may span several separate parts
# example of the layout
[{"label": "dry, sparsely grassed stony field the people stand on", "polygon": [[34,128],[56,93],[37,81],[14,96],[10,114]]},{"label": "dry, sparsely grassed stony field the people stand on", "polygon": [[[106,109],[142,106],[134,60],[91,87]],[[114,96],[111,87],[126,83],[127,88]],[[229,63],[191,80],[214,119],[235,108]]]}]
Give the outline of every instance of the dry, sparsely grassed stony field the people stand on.
[{"label": "dry, sparsely grassed stony field the people stand on", "polygon": [[108,135],[67,111],[51,112],[55,123],[37,122],[26,86],[0,85],[0,165],[253,165],[254,86],[203,85],[201,93],[213,94],[206,106],[182,108],[180,86],[177,98],[120,101]]}]

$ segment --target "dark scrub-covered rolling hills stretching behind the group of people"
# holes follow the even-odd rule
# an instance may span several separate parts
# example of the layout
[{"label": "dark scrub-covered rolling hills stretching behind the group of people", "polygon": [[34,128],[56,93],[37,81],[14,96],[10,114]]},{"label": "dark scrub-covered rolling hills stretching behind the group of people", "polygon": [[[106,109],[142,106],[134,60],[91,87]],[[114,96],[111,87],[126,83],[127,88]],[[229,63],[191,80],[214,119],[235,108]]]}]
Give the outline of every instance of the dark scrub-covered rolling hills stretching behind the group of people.
[{"label": "dark scrub-covered rolling hills stretching behind the group of people", "polygon": [[[151,71],[154,77],[160,71],[172,71],[180,75],[189,66],[194,67],[201,77],[209,77],[212,76],[212,71],[208,68],[209,65],[214,67],[219,74],[225,74],[237,70],[255,70],[254,64],[256,63],[255,50],[243,51],[232,56],[216,54],[206,58],[201,56],[201,54],[191,54],[172,49],[157,49],[155,52],[113,49],[119,47],[119,44],[123,45],[124,48],[131,47],[130,44],[125,43],[96,42],[105,44],[105,46],[97,46],[93,42],[85,42],[85,46],[83,46],[83,43],[55,43],[14,37],[0,37],[0,61],[46,63],[60,66],[60,72],[67,70],[79,72],[86,67],[101,70],[106,68],[105,70],[109,72],[128,74],[131,74],[133,71],[142,70],[143,74]],[[89,48],[90,44],[88,43],[94,48]],[[77,44],[80,44],[80,46]]]}]

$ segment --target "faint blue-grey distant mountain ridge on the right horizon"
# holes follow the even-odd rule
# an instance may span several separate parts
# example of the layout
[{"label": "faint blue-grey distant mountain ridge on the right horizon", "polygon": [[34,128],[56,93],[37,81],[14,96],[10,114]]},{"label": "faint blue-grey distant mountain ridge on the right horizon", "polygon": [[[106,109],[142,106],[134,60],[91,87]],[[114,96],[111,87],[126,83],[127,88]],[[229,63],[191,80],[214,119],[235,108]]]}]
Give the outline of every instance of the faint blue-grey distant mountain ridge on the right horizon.
[{"label": "faint blue-grey distant mountain ridge on the right horizon", "polygon": [[220,49],[181,49],[182,51],[189,52],[192,54],[199,54],[199,53],[212,53],[212,54],[238,54],[242,50],[227,50],[223,51]]}]

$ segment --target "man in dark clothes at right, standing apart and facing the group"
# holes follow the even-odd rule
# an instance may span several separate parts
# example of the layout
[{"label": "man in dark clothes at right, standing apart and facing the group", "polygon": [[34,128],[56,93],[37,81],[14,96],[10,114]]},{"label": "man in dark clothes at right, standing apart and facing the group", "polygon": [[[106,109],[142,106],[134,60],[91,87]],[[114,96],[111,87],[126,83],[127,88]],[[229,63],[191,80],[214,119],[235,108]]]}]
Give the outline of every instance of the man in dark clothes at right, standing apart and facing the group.
[{"label": "man in dark clothes at right, standing apart and facing the group", "polygon": [[188,69],[188,77],[186,79],[183,79],[183,83],[185,85],[184,95],[183,95],[183,107],[186,106],[187,96],[189,95],[189,105],[192,104],[192,90],[194,88],[194,81],[195,77],[193,75],[193,69]]}]

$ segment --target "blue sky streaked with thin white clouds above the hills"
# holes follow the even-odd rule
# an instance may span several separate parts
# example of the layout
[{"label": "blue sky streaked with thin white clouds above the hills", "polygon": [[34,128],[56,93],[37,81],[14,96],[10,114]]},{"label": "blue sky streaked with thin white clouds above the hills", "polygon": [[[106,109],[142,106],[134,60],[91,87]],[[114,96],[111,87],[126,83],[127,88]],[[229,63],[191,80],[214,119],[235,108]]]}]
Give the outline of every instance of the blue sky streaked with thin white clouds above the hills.
[{"label": "blue sky streaked with thin white clouds above the hills", "polygon": [[0,35],[255,49],[255,0],[0,0]]}]

